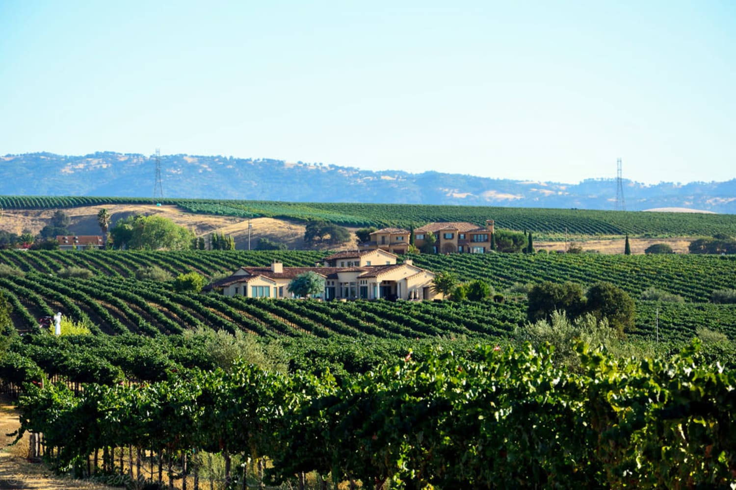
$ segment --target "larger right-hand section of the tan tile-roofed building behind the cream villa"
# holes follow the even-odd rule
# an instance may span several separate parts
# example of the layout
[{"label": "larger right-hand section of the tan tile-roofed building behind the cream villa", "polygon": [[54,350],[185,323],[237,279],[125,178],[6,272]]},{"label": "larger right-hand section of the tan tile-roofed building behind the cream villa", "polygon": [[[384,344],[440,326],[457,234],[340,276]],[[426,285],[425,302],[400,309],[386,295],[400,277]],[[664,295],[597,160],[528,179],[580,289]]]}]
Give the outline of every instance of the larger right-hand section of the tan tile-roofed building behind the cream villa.
[{"label": "larger right-hand section of the tan tile-roofed building behind the cream villa", "polygon": [[422,248],[426,237],[434,234],[435,253],[486,253],[493,231],[493,220],[486,220],[485,228],[464,221],[429,223],[414,230],[414,245]]}]

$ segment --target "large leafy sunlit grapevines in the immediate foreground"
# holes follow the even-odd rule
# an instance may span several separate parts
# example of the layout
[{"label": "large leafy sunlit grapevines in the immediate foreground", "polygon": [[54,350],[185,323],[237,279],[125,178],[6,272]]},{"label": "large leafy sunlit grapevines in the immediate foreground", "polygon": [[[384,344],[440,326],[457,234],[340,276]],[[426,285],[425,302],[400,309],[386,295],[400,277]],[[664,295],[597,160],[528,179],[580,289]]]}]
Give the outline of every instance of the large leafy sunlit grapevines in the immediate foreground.
[{"label": "large leafy sunlit grapevines in the immediate foreground", "polygon": [[244,361],[83,391],[38,375],[21,435],[43,434],[46,458],[78,476],[151,481],[158,466],[158,482],[194,490],[305,489],[307,474],[319,489],[730,488],[736,371],[701,364],[697,347],[645,362],[577,353],[579,372],[549,350],[487,345],[409,351],[342,381]]}]

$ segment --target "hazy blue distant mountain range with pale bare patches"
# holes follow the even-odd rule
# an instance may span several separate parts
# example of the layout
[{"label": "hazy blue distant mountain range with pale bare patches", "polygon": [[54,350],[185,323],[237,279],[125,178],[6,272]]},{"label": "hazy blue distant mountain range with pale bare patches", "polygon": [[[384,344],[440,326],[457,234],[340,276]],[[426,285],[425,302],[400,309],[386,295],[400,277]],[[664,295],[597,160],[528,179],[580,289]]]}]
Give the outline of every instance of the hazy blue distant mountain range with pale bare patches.
[{"label": "hazy blue distant mountain range with pale bare patches", "polygon": [[[6,155],[0,160],[0,195],[146,197],[154,191],[155,156],[105,151]],[[162,155],[160,162],[167,198],[580,209],[615,209],[616,202],[615,179],[560,184],[181,154]],[[624,180],[623,194],[629,211],[687,208],[736,214],[736,179],[654,185]]]}]

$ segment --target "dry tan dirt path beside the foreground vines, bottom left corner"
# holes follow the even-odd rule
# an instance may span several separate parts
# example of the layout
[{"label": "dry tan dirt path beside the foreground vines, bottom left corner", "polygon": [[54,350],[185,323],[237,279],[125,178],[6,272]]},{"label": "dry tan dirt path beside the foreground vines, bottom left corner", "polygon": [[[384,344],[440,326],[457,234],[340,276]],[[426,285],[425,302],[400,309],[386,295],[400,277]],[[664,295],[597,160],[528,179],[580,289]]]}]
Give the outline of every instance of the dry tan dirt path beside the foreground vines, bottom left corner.
[{"label": "dry tan dirt path beside the foreground vines, bottom left corner", "polygon": [[15,439],[7,436],[20,427],[18,413],[7,397],[0,397],[0,490],[112,490],[108,486],[88,483],[71,478],[59,478],[45,464],[29,463],[27,436],[15,446],[8,446]]}]

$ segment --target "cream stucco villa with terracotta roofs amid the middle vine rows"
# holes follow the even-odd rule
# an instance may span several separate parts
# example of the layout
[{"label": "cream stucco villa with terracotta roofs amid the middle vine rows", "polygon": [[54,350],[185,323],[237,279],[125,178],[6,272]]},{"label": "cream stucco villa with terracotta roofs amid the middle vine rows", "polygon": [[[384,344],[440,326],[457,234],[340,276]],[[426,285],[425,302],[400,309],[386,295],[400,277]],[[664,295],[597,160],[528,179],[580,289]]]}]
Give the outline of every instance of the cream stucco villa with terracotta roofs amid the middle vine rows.
[{"label": "cream stucco villa with terracotta roofs amid the middle vine rows", "polygon": [[432,300],[435,274],[415,266],[411,260],[396,263],[397,256],[380,249],[335,253],[316,267],[241,267],[230,277],[213,284],[226,296],[247,298],[291,298],[287,287],[292,279],[312,271],[325,278],[325,300]]}]

